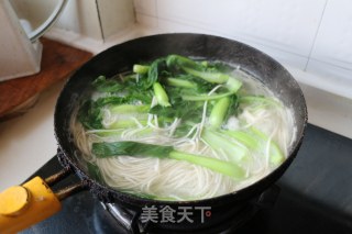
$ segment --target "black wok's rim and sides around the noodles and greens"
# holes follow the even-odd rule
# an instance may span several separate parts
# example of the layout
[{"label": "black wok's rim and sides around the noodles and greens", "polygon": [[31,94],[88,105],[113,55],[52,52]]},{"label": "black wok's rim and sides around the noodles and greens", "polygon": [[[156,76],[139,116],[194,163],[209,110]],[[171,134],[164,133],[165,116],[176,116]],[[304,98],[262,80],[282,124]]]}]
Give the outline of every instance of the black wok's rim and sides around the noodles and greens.
[{"label": "black wok's rim and sides around the noodles and greens", "polygon": [[[89,83],[100,75],[112,77],[118,73],[131,70],[133,64],[148,62],[168,54],[201,57],[209,60],[221,60],[240,65],[241,68],[261,80],[287,107],[293,107],[294,121],[297,127],[296,137],[289,148],[288,158],[272,174],[260,181],[224,196],[196,201],[156,201],[117,191],[92,179],[84,163],[79,159],[79,149],[74,144],[74,136],[69,131],[69,121],[74,110],[87,99],[91,92]],[[177,209],[184,207],[211,207],[211,218],[216,221],[223,215],[232,215],[252,202],[284,174],[294,160],[307,124],[307,108],[304,94],[293,76],[276,60],[262,52],[245,44],[223,37],[204,34],[161,34],[132,40],[116,45],[90,59],[79,68],[65,85],[55,109],[55,134],[58,142],[58,157],[65,168],[74,171],[99,200],[122,204],[139,215],[145,205],[169,205]],[[223,211],[233,212],[223,212]],[[227,213],[227,214],[226,214]],[[133,224],[134,225],[134,224]],[[163,229],[180,230],[185,225],[153,224]],[[191,232],[195,229],[207,227],[207,222],[187,224]]]}]

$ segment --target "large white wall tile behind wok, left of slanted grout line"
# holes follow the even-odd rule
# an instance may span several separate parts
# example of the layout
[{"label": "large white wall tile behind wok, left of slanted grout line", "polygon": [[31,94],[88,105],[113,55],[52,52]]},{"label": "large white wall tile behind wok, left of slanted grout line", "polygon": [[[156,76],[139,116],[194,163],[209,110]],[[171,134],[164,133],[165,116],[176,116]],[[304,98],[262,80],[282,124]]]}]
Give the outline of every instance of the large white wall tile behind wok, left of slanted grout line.
[{"label": "large white wall tile behind wok, left of slanted grout line", "polygon": [[308,55],[324,0],[160,0],[160,19],[248,37],[294,54]]}]

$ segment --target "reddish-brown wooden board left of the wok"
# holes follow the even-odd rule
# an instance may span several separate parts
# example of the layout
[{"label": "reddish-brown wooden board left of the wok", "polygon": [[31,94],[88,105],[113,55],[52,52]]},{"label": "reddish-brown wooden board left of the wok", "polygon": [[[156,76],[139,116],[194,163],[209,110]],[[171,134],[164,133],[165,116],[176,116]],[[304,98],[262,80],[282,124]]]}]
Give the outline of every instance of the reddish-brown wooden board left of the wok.
[{"label": "reddish-brown wooden board left of the wok", "polygon": [[89,58],[91,53],[62,43],[41,38],[43,54],[38,74],[0,82],[0,120],[37,93],[67,79],[68,76]]}]

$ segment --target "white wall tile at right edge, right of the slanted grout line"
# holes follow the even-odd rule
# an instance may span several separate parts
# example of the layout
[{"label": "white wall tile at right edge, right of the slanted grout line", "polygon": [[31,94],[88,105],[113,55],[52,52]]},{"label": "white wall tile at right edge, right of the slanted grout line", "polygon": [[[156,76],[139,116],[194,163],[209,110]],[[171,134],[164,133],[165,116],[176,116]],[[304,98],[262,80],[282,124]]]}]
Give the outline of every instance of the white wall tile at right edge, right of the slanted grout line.
[{"label": "white wall tile at right edge, right of the slanted grout line", "polygon": [[352,1],[328,1],[307,71],[352,81]]}]

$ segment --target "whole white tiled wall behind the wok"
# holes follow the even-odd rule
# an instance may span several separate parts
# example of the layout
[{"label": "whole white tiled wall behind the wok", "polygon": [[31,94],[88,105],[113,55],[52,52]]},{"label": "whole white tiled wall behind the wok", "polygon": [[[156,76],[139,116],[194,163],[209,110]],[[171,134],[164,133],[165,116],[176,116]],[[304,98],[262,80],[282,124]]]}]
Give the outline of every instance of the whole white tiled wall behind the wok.
[{"label": "whole white tiled wall behind the wok", "polygon": [[[82,2],[85,1],[85,4]],[[130,0],[119,0],[124,2]],[[96,2],[106,0],[72,0],[58,22],[92,38],[103,38],[107,26],[121,23],[111,14],[101,18],[89,13]],[[110,2],[110,1],[107,1]],[[114,2],[114,9],[119,4]],[[326,79],[329,90],[343,88],[343,97],[352,92],[352,1],[351,0],[133,0],[140,25],[160,32],[196,32],[216,34],[254,46],[276,58],[284,66]],[[111,5],[105,3],[106,7]],[[114,30],[116,31],[116,30]],[[109,33],[109,34],[113,34]]]}]

